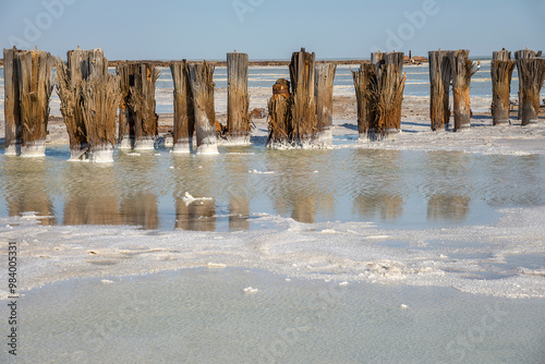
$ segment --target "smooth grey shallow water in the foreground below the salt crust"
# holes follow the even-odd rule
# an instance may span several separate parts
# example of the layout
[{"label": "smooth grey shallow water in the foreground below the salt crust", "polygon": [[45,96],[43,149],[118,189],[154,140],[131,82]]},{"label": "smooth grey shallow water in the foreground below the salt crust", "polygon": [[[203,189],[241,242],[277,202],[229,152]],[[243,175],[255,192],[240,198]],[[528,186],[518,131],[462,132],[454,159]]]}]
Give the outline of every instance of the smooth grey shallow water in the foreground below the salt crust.
[{"label": "smooth grey shallow water in the foreground below the salt crust", "polygon": [[17,362],[540,363],[543,301],[244,269],[89,278],[25,293]]}]

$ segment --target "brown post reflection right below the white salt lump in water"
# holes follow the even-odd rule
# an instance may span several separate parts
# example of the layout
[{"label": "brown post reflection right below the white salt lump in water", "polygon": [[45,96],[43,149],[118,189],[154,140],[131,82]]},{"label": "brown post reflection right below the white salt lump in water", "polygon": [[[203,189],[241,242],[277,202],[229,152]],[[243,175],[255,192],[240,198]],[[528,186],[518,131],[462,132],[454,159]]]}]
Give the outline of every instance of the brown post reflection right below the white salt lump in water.
[{"label": "brown post reflection right below the white salt lump in water", "polygon": [[214,199],[175,199],[175,228],[194,231],[216,230]]}]

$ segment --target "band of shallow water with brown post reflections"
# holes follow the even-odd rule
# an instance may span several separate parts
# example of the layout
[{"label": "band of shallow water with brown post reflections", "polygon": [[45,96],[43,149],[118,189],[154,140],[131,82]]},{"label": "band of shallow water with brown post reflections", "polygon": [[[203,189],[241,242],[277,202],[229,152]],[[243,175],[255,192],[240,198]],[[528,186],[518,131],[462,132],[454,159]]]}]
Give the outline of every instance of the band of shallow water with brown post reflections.
[{"label": "band of shallow water with brown post reflections", "polygon": [[[0,155],[0,216],[44,225],[259,229],[263,214],[301,222],[403,229],[491,223],[502,207],[545,204],[544,157],[340,148],[222,147],[217,156],[119,151],[111,165]],[[187,201],[185,193],[211,199]]]}]

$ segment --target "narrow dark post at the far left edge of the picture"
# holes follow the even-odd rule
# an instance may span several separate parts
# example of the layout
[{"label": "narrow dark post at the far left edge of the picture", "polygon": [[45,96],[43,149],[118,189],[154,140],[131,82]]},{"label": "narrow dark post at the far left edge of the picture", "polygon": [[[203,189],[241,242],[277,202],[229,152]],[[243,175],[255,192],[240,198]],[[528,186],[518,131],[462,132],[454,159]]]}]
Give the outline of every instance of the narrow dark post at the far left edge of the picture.
[{"label": "narrow dark post at the far left edge of the picture", "polygon": [[3,50],[4,77],[4,121],[5,121],[5,151],[7,156],[16,156],[21,153],[21,109],[19,102],[19,76],[14,66],[15,47]]}]

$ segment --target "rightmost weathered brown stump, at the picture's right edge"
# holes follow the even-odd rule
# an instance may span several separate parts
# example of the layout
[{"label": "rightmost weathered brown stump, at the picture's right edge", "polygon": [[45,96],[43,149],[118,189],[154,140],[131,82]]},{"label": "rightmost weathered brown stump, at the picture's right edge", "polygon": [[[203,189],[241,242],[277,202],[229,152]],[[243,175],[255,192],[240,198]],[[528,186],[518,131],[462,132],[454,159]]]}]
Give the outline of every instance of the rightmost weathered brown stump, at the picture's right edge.
[{"label": "rightmost weathered brown stump, at the picture's right edge", "polygon": [[521,59],[517,64],[519,80],[522,82],[519,101],[522,125],[537,123],[540,93],[545,82],[545,59]]}]

